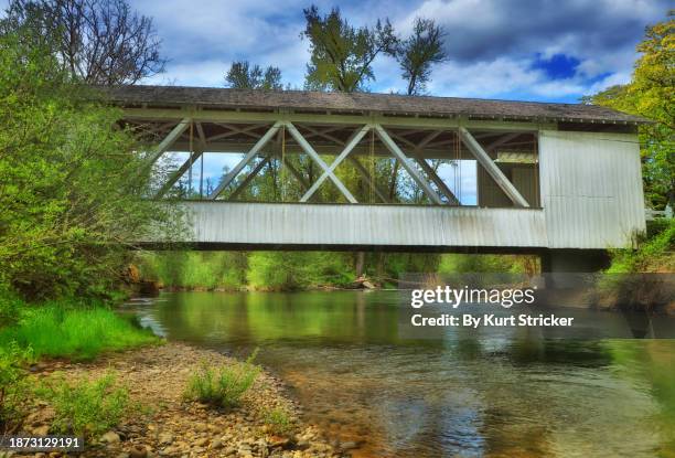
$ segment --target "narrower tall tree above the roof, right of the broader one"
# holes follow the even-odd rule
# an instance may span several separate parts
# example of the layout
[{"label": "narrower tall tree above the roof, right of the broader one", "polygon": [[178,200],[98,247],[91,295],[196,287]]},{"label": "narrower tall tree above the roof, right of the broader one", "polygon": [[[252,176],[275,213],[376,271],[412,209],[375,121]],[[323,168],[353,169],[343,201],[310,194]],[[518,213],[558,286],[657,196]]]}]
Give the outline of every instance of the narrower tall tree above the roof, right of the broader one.
[{"label": "narrower tall tree above the roof, right of the broader one", "polygon": [[407,94],[419,95],[426,89],[431,76],[431,66],[446,60],[443,29],[432,19],[417,18],[413,34],[399,42],[395,56],[408,82]]}]

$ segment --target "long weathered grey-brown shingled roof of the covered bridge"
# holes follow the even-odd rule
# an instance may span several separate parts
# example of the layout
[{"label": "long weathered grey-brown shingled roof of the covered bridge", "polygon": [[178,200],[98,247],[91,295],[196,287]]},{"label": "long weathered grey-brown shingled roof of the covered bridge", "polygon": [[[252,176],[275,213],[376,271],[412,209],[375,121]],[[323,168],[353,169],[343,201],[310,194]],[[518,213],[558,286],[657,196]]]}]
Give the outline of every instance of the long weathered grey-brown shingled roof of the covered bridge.
[{"label": "long weathered grey-brown shingled roof of the covered bridge", "polygon": [[375,113],[425,117],[523,119],[538,121],[642,124],[645,119],[596,105],[419,97],[373,93],[254,90],[185,86],[116,86],[104,88],[110,102],[126,106],[250,109],[341,114]]}]

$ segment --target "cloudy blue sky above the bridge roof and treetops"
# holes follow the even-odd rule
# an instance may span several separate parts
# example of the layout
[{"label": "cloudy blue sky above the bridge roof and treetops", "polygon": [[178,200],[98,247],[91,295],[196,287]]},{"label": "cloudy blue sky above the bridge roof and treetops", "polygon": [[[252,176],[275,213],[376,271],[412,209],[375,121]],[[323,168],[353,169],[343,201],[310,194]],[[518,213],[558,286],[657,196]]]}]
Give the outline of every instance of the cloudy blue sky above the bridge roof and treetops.
[{"label": "cloudy blue sky above the bridge roof and treetops", "polygon": [[[154,18],[167,73],[148,83],[222,86],[235,60],[279,66],[301,87],[308,43],[300,39],[309,1],[136,0]],[[665,18],[666,0],[360,0],[339,6],[350,22],[388,18],[400,36],[415,18],[444,26],[449,60],[437,65],[432,95],[577,102],[630,78],[644,28]],[[373,92],[401,92],[396,63],[375,62]]]}]

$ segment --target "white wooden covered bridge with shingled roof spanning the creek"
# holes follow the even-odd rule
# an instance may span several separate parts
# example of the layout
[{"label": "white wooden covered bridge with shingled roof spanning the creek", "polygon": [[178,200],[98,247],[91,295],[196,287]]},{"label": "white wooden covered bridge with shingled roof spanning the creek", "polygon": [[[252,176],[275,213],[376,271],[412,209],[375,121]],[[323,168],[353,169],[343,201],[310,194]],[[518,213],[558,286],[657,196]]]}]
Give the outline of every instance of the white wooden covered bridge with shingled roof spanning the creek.
[{"label": "white wooden covered bridge with shingled roof spanning the creek", "polygon": [[[193,223],[184,242],[197,247],[562,253],[628,247],[645,227],[636,136],[643,120],[603,107],[196,87],[106,90],[124,108],[121,123],[157,146],[149,161],[185,152],[158,196],[200,170],[205,155],[237,155],[218,182],[206,189],[202,182],[199,192],[195,185],[183,202]],[[294,167],[289,158],[298,156],[315,173]],[[393,199],[373,168],[378,160],[396,163],[420,198]],[[301,188],[298,196],[243,199],[275,161]],[[452,166],[444,174],[443,161]],[[339,178],[342,163],[358,172],[360,189],[367,190],[361,196]],[[464,173],[459,181],[458,171]],[[336,190],[333,202],[318,200],[326,185]]]}]

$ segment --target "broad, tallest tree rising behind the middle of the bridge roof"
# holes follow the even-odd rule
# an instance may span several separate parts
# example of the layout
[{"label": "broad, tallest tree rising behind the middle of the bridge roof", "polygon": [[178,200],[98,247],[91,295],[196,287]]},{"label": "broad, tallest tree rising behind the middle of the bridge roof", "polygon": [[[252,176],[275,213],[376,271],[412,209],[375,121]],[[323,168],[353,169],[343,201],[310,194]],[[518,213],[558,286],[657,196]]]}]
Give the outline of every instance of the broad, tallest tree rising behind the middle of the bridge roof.
[{"label": "broad, tallest tree rising behind the middle of the bridge roof", "polygon": [[307,26],[302,36],[310,42],[307,86],[318,90],[352,93],[364,90],[375,79],[373,61],[379,53],[394,53],[397,39],[388,20],[375,28],[354,28],[339,8],[324,17],[315,6],[303,10]]}]

